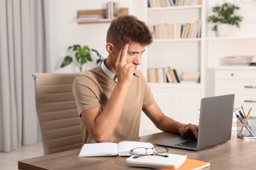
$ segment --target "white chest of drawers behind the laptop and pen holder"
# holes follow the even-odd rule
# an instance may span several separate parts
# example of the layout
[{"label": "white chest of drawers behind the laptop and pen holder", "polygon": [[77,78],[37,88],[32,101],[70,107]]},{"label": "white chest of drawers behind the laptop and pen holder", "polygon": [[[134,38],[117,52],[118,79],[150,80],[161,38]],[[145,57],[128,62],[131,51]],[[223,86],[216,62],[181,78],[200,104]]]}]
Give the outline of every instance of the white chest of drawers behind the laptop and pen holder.
[{"label": "white chest of drawers behind the laptop and pen holder", "polygon": [[240,110],[243,105],[245,112],[252,108],[251,116],[256,116],[256,67],[216,67],[215,95],[229,93],[235,94],[234,110]]}]

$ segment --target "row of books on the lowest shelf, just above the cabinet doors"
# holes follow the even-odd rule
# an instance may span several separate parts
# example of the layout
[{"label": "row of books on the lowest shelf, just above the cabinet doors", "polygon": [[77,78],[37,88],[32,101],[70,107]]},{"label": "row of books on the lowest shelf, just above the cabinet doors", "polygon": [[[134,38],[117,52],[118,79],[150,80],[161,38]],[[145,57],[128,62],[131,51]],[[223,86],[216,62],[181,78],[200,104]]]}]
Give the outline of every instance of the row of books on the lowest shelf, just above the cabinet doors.
[{"label": "row of books on the lowest shelf, just above the cabinet doors", "polygon": [[200,71],[184,71],[181,78],[176,69],[171,67],[148,69],[148,82],[158,83],[198,83],[200,82]]}]

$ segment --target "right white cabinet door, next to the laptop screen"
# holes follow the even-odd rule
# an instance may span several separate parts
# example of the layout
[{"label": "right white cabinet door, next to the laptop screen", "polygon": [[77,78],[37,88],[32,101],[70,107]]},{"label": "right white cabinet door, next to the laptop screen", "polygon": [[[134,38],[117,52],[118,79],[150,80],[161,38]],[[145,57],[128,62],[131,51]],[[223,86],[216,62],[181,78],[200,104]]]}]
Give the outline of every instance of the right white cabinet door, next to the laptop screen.
[{"label": "right white cabinet door, next to the laptop screen", "polygon": [[200,109],[199,89],[173,90],[173,118],[179,122],[198,124]]}]

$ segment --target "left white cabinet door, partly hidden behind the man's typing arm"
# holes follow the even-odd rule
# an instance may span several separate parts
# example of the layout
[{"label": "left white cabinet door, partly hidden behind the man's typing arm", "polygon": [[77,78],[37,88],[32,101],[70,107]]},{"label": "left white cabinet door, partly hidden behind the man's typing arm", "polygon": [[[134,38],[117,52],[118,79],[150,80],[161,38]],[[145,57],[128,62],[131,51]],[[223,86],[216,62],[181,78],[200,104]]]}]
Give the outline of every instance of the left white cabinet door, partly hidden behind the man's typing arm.
[{"label": "left white cabinet door, partly hidden behind the man's typing arm", "polygon": [[[172,107],[173,107],[173,93],[169,88],[151,88],[156,103],[158,103],[160,109],[163,113],[169,117],[172,116]],[[158,133],[160,129],[152,123],[152,121],[142,112],[140,120],[140,136],[149,135],[152,133]]]}]

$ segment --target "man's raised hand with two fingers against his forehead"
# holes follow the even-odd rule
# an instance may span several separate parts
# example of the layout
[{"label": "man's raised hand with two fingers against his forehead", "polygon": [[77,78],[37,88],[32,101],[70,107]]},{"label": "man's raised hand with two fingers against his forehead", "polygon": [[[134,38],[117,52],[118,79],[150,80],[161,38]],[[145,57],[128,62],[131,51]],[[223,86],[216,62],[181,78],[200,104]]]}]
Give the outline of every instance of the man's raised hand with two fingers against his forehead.
[{"label": "man's raised hand with two fingers against his forehead", "polygon": [[118,78],[118,84],[124,84],[125,86],[130,86],[133,82],[133,63],[127,63],[127,51],[129,44],[125,44],[119,51],[116,59],[116,75]]}]

